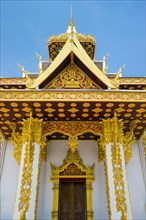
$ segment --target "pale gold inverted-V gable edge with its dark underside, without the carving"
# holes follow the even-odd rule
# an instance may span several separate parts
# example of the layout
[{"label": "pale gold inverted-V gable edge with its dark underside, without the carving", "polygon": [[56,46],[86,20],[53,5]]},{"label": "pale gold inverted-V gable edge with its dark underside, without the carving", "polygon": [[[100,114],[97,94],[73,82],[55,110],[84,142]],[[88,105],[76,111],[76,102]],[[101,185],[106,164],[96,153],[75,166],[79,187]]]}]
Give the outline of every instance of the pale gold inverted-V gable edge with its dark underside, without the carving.
[{"label": "pale gold inverted-V gable edge with its dark underside, without the carving", "polygon": [[115,88],[110,79],[102,73],[93,60],[88,56],[74,32],[70,33],[62,50],[54,61],[52,61],[50,66],[39,75],[39,77],[28,88],[44,88],[71,62],[74,62],[75,65],[79,66],[79,68],[98,84],[100,88]]}]

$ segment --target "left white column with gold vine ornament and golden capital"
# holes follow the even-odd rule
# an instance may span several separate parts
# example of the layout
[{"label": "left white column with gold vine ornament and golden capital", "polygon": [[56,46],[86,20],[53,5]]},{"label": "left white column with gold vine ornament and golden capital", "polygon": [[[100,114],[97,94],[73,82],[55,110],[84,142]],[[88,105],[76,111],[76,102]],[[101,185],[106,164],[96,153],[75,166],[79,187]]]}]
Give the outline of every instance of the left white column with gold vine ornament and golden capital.
[{"label": "left white column with gold vine ornament and golden capital", "polygon": [[[22,135],[13,132],[13,143],[18,145],[21,155],[16,203],[13,219],[35,220],[40,182],[41,161],[46,158],[46,138],[42,137],[42,120],[30,118],[23,120]],[[23,144],[25,143],[25,144]],[[22,145],[22,148],[21,148]]]}]

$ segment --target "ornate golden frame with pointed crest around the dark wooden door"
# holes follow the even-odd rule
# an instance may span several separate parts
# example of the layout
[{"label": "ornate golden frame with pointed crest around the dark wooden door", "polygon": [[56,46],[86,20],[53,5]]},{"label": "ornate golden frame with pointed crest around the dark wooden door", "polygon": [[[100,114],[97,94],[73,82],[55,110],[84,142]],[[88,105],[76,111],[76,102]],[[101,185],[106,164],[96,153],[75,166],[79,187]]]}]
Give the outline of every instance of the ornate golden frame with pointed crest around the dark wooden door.
[{"label": "ornate golden frame with pointed crest around the dark wooden door", "polygon": [[66,158],[61,166],[53,166],[51,180],[53,181],[53,210],[52,220],[58,220],[59,211],[59,182],[61,179],[85,179],[87,220],[93,220],[92,210],[92,182],[94,177],[94,164],[91,167],[84,166],[77,149],[68,150]]}]

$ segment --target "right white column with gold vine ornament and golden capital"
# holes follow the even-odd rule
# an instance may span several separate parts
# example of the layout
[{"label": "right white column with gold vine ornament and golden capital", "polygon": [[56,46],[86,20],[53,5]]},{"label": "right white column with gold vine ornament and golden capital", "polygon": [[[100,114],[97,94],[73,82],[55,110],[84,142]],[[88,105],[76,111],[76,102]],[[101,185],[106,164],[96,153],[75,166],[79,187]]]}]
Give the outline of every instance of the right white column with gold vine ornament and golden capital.
[{"label": "right white column with gold vine ornament and golden capital", "polygon": [[[99,141],[99,154],[102,153],[105,164],[106,191],[110,220],[131,220],[128,180],[124,149],[125,143],[133,141],[133,130],[124,136],[123,121],[116,117],[103,119],[103,135]],[[130,137],[130,140],[128,139]],[[126,142],[125,142],[126,139]]]}]

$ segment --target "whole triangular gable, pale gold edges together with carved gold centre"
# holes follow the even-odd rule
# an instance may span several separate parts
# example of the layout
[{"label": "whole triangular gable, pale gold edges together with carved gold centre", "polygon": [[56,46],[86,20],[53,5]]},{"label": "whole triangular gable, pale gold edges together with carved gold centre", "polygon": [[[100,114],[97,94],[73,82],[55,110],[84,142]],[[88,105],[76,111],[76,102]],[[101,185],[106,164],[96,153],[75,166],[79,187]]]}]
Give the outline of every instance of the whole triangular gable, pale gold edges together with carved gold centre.
[{"label": "whole triangular gable, pale gold edges together with carved gold centre", "polygon": [[[71,67],[71,65],[73,66]],[[69,69],[71,70],[71,73],[68,73],[67,76]],[[73,78],[73,72],[76,77],[82,76],[84,80],[79,82],[77,78]],[[30,85],[29,88],[55,88],[54,86],[57,85],[57,82],[61,83],[61,77],[65,75],[67,78],[63,80],[64,84],[63,86],[60,85],[59,88],[114,88],[114,85],[110,79],[88,56],[76,38],[75,33],[69,36],[64,47],[57,55],[55,60],[42,74],[39,75],[39,77],[33,82],[32,85]],[[90,83],[91,86],[89,86]],[[85,86],[85,84],[88,86]]]}]

